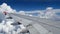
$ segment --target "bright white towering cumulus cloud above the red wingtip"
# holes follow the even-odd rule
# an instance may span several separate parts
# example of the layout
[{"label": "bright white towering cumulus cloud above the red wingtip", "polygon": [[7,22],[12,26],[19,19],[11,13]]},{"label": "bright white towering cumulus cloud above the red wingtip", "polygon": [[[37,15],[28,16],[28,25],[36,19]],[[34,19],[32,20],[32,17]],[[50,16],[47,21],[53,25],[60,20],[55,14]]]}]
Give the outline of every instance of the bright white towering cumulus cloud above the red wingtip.
[{"label": "bright white towering cumulus cloud above the red wingtip", "polygon": [[8,13],[14,13],[14,12],[16,12],[16,10],[12,9],[6,3],[3,3],[2,5],[0,5],[0,12],[4,12],[4,11],[8,12]]}]

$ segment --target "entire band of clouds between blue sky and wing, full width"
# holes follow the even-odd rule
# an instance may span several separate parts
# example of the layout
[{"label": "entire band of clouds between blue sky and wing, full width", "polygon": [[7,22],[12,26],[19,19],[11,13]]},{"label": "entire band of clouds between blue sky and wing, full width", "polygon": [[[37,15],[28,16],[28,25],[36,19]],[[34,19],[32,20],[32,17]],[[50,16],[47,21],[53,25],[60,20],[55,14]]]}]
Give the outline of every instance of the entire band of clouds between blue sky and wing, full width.
[{"label": "entire band of clouds between blue sky and wing, full width", "polygon": [[[27,15],[29,13],[29,16],[32,15],[32,13],[39,13],[37,16],[40,18],[53,18],[53,19],[60,19],[60,9],[53,9],[52,7],[47,7],[46,10],[34,10],[34,11],[19,11],[17,12],[16,10],[12,9],[9,5],[6,3],[3,3],[0,5],[0,12],[8,12],[8,13],[18,13],[21,15]],[[59,14],[58,14],[59,13]],[[34,16],[34,15],[32,15]]]}]

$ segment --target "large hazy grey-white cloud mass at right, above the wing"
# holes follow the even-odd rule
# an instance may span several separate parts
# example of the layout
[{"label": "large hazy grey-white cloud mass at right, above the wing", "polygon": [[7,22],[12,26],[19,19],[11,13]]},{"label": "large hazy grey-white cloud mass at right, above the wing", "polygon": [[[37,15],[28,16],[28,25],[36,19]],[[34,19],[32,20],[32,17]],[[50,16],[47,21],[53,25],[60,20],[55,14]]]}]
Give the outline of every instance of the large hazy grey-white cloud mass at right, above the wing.
[{"label": "large hazy grey-white cloud mass at right, above the wing", "polygon": [[47,7],[43,14],[40,14],[40,18],[60,20],[60,9],[53,9],[52,7]]}]

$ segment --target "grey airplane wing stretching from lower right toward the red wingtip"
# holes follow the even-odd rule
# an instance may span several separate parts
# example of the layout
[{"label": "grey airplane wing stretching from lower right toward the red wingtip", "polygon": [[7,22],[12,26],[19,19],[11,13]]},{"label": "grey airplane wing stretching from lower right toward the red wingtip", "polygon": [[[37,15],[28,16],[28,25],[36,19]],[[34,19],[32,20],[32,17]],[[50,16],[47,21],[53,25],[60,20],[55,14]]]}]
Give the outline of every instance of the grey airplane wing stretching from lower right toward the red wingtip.
[{"label": "grey airplane wing stretching from lower right toward the red wingtip", "polygon": [[60,21],[13,13],[9,14],[9,16],[23,23],[25,26],[32,24],[32,28],[30,27],[32,34],[60,34]]}]

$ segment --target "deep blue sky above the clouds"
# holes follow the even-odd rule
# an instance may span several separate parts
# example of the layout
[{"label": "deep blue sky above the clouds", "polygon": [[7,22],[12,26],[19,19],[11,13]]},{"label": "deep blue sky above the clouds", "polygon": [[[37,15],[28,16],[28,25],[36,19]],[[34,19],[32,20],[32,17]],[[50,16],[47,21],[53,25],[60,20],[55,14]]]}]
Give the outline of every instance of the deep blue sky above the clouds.
[{"label": "deep blue sky above the clouds", "polygon": [[2,3],[7,3],[17,11],[43,10],[47,7],[60,9],[60,0],[0,0],[0,5]]}]

